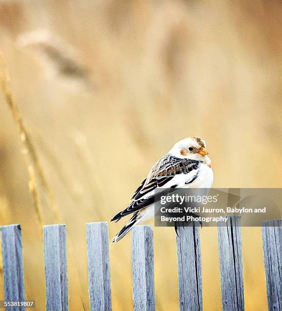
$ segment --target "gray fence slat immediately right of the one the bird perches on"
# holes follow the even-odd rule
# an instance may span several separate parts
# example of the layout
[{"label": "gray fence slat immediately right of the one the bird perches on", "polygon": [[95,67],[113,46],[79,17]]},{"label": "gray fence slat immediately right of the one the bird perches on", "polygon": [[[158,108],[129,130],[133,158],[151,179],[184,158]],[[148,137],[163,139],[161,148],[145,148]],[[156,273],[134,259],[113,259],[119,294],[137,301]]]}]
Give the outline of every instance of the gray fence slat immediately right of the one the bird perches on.
[{"label": "gray fence slat immediately right of the one the bird perches on", "polygon": [[233,215],[228,217],[227,223],[218,223],[217,226],[222,308],[226,311],[244,310],[240,219],[240,216]]}]

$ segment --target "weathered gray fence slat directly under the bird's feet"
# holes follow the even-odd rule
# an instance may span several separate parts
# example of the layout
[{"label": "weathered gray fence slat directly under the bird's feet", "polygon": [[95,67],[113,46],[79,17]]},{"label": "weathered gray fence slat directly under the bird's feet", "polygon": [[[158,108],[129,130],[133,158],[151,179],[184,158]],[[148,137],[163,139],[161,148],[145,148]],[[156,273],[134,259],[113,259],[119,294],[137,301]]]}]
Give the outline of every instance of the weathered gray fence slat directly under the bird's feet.
[{"label": "weathered gray fence slat directly under the bird's feet", "polygon": [[199,311],[203,309],[200,229],[193,224],[178,227],[177,233],[179,310]]}]

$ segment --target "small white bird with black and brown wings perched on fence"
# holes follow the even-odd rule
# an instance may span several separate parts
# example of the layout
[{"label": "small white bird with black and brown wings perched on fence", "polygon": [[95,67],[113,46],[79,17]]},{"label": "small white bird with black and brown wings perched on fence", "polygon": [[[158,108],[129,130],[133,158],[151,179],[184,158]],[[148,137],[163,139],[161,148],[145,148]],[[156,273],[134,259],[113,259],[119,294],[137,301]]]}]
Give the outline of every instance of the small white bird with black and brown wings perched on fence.
[{"label": "small white bird with black and brown wings perched on fence", "polygon": [[[197,136],[184,138],[158,160],[148,176],[136,189],[130,204],[111,221],[133,213],[128,223],[114,236],[112,244],[122,239],[134,226],[152,219],[155,215],[155,195],[159,189],[207,188],[213,182],[211,160],[206,142]],[[177,228],[176,228],[177,233]]]}]

